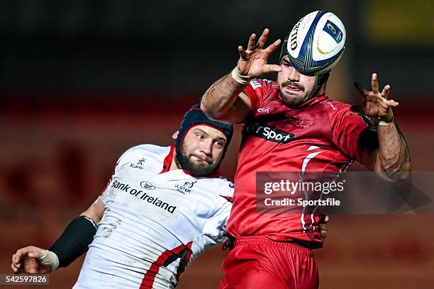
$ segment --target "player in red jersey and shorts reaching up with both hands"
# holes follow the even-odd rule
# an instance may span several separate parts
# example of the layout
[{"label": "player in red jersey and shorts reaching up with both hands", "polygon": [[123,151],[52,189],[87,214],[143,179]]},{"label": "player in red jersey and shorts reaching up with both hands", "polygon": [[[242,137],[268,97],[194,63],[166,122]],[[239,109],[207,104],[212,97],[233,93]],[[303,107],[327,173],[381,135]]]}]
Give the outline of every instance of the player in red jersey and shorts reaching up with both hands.
[{"label": "player in red jersey and shorts reaching up with both hands", "polygon": [[[354,160],[384,179],[405,179],[411,159],[404,136],[393,118],[390,86],[372,90],[360,84],[363,107],[325,95],[328,72],[300,74],[282,49],[279,65],[267,59],[280,40],[265,47],[269,30],[257,43],[250,35],[247,50],[233,72],[204,94],[201,108],[209,118],[243,123],[243,139],[235,174],[233,208],[227,232],[233,249],[223,262],[221,288],[318,288],[311,249],[322,246],[321,215],[260,214],[255,210],[257,171],[345,171]],[[258,79],[278,72],[277,81]],[[372,122],[369,118],[374,118]]]}]

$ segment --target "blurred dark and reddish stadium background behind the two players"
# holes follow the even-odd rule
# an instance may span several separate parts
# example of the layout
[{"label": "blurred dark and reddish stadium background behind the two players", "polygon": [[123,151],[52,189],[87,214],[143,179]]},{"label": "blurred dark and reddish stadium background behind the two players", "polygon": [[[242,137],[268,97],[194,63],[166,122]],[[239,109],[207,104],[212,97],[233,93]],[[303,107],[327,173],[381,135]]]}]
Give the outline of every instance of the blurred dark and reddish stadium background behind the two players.
[{"label": "blurred dark and reddish stadium background behind the two players", "polygon": [[[50,246],[125,149],[169,145],[184,111],[230,72],[250,33],[268,27],[270,40],[283,38],[320,8],[347,28],[330,98],[361,103],[352,81],[369,86],[377,72],[400,103],[413,170],[432,171],[433,1],[0,1],[0,273],[11,272],[19,247]],[[433,220],[332,216],[315,251],[321,288],[433,288]],[[201,256],[179,288],[215,288],[225,255],[218,247]],[[52,273],[50,288],[70,288],[81,261]]]}]

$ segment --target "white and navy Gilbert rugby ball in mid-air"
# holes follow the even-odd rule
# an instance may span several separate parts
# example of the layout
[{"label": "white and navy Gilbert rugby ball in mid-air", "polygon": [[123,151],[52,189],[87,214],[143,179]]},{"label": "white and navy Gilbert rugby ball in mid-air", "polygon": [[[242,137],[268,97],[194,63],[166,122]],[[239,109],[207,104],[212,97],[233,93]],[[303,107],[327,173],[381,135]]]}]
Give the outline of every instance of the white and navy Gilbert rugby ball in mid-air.
[{"label": "white and navy Gilbert rugby ball in mid-air", "polygon": [[308,13],[288,35],[289,62],[301,74],[328,72],[343,55],[345,39],[345,26],[338,16],[328,11]]}]

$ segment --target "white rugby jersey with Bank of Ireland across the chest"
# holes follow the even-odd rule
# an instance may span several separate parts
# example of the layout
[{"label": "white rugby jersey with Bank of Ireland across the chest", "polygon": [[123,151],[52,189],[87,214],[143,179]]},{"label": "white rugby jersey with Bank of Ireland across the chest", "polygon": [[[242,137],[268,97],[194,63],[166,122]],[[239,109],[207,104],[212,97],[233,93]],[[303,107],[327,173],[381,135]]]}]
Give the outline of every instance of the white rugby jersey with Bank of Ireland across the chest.
[{"label": "white rugby jersey with Bank of Ireland across the chest", "polygon": [[174,288],[196,256],[226,240],[233,183],[168,171],[173,152],[139,145],[118,160],[74,288]]}]

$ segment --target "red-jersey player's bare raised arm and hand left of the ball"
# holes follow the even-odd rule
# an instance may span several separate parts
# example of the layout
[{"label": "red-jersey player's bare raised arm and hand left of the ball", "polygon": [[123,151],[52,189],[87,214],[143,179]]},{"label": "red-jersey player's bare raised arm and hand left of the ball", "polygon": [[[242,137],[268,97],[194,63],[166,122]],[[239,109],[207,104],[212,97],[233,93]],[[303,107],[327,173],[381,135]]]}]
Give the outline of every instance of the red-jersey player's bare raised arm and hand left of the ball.
[{"label": "red-jersey player's bare raised arm and hand left of the ball", "polygon": [[256,35],[250,35],[247,50],[238,46],[240,60],[230,74],[218,79],[205,92],[201,109],[213,120],[227,123],[240,123],[247,117],[252,104],[242,91],[250,80],[267,72],[279,72],[279,65],[267,64],[271,55],[280,45],[280,40],[264,48],[269,29],[265,29],[257,43]]}]

